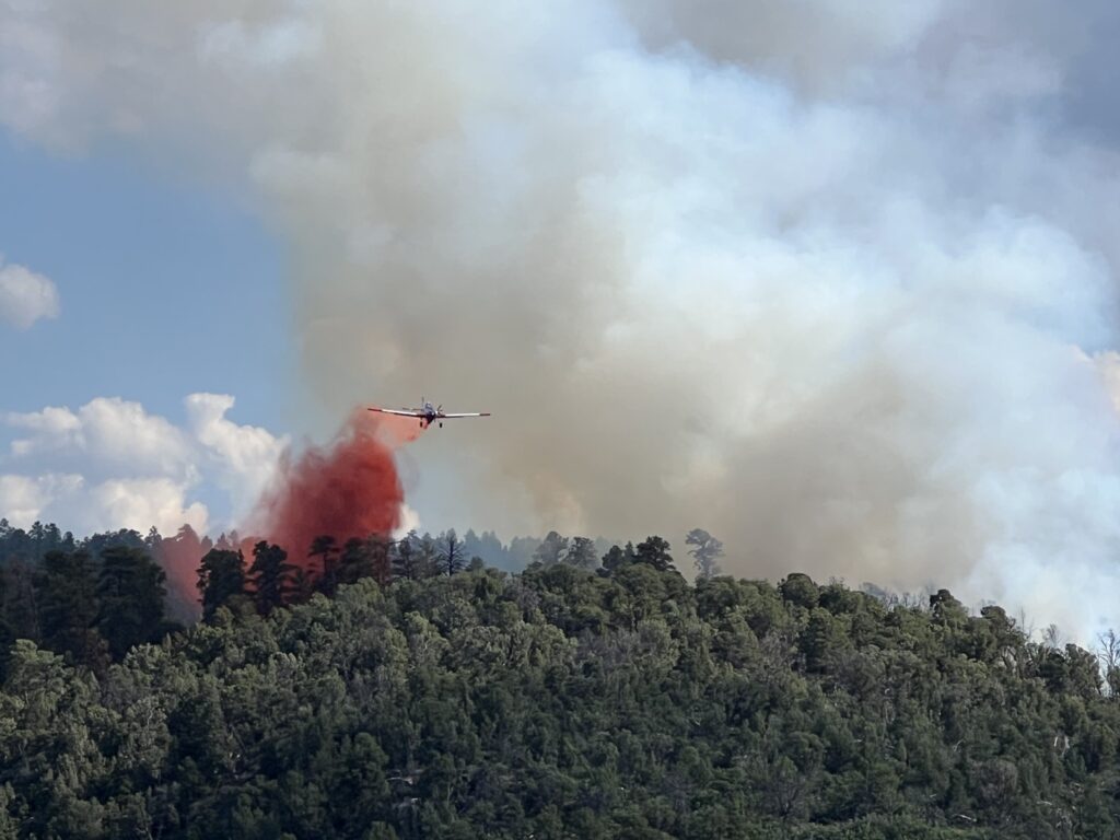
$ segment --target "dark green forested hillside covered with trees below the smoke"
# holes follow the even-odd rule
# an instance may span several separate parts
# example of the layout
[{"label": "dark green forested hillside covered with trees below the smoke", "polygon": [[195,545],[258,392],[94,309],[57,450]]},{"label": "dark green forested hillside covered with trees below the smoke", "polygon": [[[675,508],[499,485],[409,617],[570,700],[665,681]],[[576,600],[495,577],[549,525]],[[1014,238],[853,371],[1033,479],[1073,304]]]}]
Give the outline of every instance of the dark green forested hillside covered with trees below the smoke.
[{"label": "dark green forested hillside covered with trees below the smoke", "polygon": [[0,838],[1117,837],[1114,635],[449,533],[218,540],[175,631],[152,540],[3,529]]}]

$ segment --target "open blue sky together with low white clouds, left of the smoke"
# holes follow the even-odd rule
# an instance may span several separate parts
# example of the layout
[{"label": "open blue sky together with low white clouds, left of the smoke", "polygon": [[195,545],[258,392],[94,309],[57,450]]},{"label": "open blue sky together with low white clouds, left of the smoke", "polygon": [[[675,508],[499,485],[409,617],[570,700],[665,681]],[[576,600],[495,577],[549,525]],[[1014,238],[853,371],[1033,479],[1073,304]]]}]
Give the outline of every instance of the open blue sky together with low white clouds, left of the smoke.
[{"label": "open blue sky together with low white clouds, left of the smoke", "polygon": [[[281,251],[220,185],[114,149],[63,156],[0,132],[0,264],[59,300],[28,328],[0,318],[0,517],[225,530],[291,404]],[[188,409],[190,394],[236,403]]]}]

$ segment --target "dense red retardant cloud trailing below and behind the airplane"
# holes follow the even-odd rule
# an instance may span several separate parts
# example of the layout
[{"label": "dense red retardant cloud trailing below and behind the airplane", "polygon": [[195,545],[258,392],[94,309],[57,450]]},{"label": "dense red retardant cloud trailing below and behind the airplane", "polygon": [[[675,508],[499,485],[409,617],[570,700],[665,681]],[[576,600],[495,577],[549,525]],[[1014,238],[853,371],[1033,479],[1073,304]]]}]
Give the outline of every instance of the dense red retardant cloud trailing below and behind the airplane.
[{"label": "dense red retardant cloud trailing below and behind the airplane", "polygon": [[333,536],[340,547],[355,536],[391,534],[403,503],[383,424],[356,409],[326,446],[282,456],[248,530],[282,547],[293,566],[317,572],[308,557],[316,536]]}]

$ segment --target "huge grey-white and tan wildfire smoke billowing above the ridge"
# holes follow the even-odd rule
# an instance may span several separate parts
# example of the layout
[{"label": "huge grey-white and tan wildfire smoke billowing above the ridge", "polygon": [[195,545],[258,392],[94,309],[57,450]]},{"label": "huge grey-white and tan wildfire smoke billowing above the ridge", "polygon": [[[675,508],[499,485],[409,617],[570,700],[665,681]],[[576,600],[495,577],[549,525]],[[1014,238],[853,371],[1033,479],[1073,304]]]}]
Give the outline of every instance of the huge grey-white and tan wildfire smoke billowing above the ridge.
[{"label": "huge grey-white and tan wildfire smoke billowing above the ridge", "polygon": [[1109,4],[0,9],[9,130],[243,179],[326,411],[494,412],[465,522],[1120,617]]}]

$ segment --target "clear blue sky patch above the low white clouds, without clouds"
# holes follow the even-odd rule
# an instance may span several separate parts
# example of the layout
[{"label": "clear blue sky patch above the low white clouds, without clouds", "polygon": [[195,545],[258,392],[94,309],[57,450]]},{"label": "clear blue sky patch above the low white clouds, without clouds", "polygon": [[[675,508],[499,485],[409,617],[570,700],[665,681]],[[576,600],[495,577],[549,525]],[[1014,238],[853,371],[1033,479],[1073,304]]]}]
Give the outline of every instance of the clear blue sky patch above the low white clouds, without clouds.
[{"label": "clear blue sky patch above the low white clouds, without clouds", "polygon": [[50,278],[60,317],[0,327],[0,411],[142,402],[172,420],[194,392],[283,424],[292,370],[278,242],[216,187],[123,155],[60,157],[0,132],[0,253]]}]

